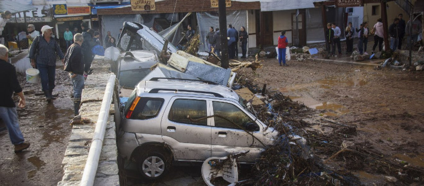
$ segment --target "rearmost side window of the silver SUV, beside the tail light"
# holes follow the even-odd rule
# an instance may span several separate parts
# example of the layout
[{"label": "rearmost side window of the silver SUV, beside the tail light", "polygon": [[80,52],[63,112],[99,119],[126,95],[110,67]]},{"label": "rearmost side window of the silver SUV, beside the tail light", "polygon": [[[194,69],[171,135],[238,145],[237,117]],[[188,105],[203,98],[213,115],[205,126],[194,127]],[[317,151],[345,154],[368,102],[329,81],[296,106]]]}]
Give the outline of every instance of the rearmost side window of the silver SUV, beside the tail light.
[{"label": "rearmost side window of the silver SUV, beside the tail light", "polygon": [[164,99],[155,97],[141,97],[134,108],[130,119],[151,119],[158,115]]}]

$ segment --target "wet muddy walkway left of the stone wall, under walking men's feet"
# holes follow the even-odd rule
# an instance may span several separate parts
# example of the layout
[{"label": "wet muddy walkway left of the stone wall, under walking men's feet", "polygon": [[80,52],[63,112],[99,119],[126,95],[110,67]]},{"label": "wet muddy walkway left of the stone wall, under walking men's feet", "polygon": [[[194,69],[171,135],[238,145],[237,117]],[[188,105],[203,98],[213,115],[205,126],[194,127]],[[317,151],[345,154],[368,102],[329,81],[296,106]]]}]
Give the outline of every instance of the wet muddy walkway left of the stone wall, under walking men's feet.
[{"label": "wet muddy walkway left of the stone wall, under walking men's feet", "polygon": [[[53,186],[62,179],[64,151],[71,132],[73,117],[72,86],[69,76],[56,68],[56,88],[59,94],[52,103],[45,101],[41,84],[27,83],[25,74],[18,73],[25,94],[26,108],[17,109],[20,129],[31,146],[15,154],[7,130],[0,132],[0,185],[2,186]],[[19,98],[14,96],[18,103]],[[3,123],[0,128],[4,127]]]}]

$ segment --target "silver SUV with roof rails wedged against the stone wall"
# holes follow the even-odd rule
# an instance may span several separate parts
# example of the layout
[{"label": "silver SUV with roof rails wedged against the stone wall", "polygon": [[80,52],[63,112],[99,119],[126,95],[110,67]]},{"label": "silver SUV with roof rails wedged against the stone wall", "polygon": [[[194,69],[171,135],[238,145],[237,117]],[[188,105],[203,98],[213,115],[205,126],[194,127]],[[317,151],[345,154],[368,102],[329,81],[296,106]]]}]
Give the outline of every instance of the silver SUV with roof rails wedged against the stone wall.
[{"label": "silver SUV with roof rails wedged against the stone wall", "polygon": [[243,150],[250,152],[239,161],[253,163],[277,133],[240,100],[232,89],[212,82],[141,81],[120,112],[119,154],[124,164],[136,163],[147,179],[161,178],[173,162],[204,161]]}]

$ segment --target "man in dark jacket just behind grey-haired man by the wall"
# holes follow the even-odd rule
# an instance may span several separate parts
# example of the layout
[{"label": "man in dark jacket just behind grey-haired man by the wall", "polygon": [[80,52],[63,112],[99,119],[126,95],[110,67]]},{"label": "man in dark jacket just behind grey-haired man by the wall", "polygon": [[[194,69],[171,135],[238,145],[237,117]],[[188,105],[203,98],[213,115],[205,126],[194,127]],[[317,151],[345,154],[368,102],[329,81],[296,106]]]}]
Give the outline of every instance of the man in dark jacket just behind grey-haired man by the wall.
[{"label": "man in dark jacket just behind grey-haired man by the wall", "polygon": [[94,59],[91,49],[96,44],[93,40],[94,30],[87,28],[87,24],[85,22],[81,23],[81,28],[83,29],[82,36],[84,37],[84,42],[81,44],[84,53],[84,78],[87,78],[91,63]]}]

